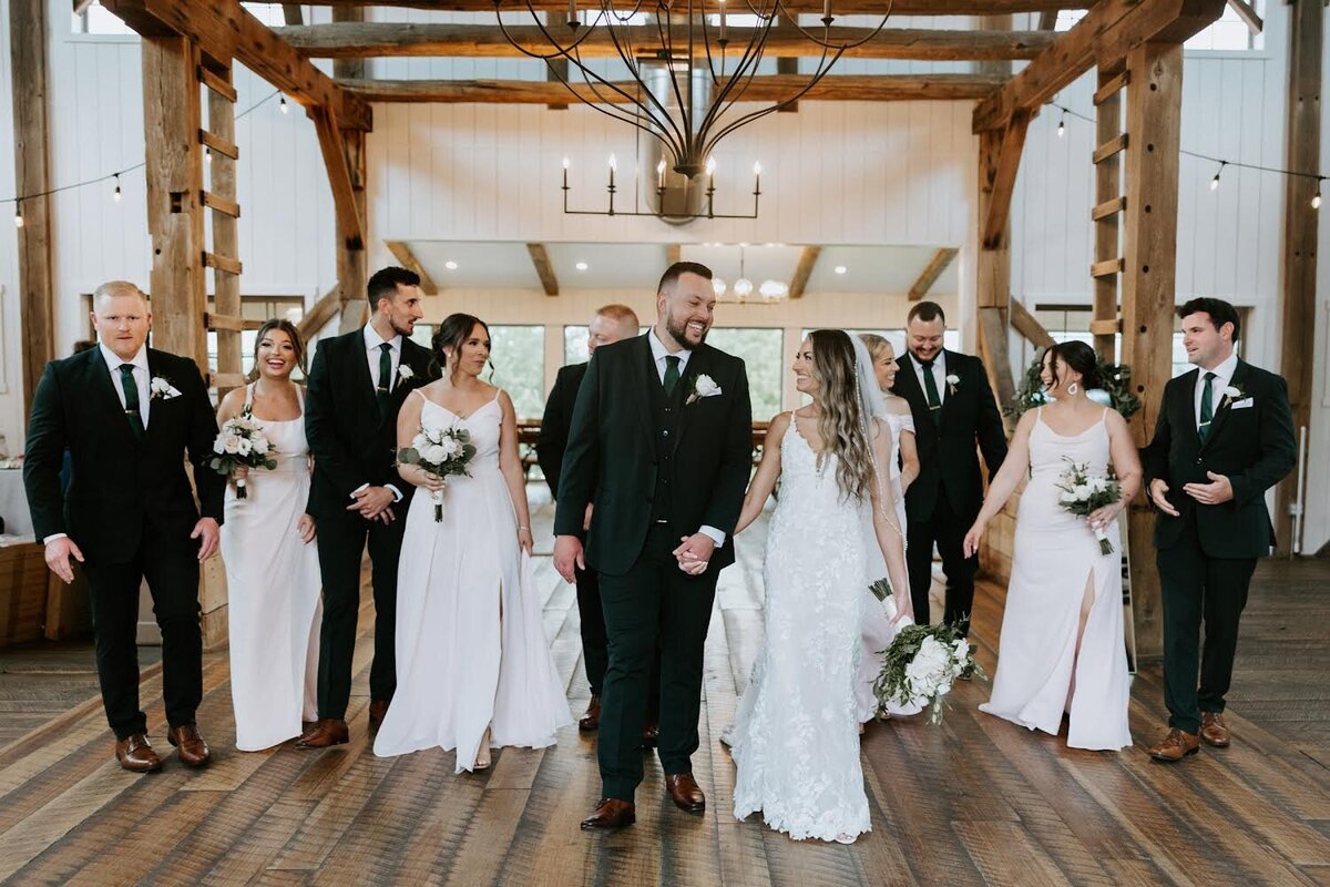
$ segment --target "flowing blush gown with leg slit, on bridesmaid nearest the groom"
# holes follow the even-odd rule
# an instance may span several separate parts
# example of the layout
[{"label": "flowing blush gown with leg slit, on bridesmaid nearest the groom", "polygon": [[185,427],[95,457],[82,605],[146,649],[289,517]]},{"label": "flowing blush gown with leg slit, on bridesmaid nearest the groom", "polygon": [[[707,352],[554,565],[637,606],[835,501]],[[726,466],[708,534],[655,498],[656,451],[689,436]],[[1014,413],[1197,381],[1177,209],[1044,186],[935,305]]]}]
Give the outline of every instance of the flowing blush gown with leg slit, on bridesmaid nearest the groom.
[{"label": "flowing blush gown with leg slit, on bridesmaid nearest the groom", "polygon": [[499,471],[499,400],[462,418],[412,394],[424,402],[422,426],[466,427],[476,455],[469,477],[448,479],[442,523],[427,491],[411,499],[398,567],[398,689],[374,753],[456,749],[460,773],[473,767],[485,727],[491,747],[543,749],[572,713]]}]

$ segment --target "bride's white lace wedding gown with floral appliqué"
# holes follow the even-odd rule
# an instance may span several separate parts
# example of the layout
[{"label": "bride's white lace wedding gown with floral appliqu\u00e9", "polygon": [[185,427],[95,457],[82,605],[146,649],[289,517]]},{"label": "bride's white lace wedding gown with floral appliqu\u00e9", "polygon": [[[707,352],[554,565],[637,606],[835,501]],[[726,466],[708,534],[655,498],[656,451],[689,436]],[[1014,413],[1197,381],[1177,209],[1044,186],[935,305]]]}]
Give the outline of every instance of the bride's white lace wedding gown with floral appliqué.
[{"label": "bride's white lace wedding gown with floral appliqu\u00e9", "polygon": [[[799,840],[871,830],[859,763],[855,674],[867,590],[864,509],[846,500],[837,459],[817,455],[791,418],[766,564],[766,642],[728,731],[734,818]],[[876,578],[876,577],[872,577]]]}]

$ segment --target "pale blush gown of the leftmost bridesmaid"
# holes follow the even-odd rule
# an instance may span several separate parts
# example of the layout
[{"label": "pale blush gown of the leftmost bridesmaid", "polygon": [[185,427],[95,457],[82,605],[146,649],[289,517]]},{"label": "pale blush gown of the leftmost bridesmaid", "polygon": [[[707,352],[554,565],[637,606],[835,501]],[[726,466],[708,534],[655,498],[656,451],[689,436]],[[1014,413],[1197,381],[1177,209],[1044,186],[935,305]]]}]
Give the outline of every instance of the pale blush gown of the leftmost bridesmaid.
[{"label": "pale blush gown of the leftmost bridesmaid", "polygon": [[[297,388],[303,412],[305,399]],[[253,383],[245,406],[254,403]],[[301,735],[314,721],[318,697],[319,552],[295,524],[310,497],[310,447],[305,416],[259,419],[277,468],[253,468],[249,495],[226,488],[222,563],[226,565],[231,703],[235,747],[258,751]]]}]

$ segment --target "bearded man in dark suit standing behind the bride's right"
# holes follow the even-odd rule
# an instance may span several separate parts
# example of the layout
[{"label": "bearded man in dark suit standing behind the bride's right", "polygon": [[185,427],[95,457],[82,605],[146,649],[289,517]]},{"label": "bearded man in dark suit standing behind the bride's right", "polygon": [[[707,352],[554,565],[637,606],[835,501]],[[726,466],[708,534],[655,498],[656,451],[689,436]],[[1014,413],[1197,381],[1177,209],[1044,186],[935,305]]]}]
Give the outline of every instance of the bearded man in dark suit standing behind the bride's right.
[{"label": "bearded man in dark suit standing behind the bride's right", "polygon": [[998,412],[988,374],[979,358],[942,346],[947,317],[935,302],[919,302],[906,318],[906,347],[892,392],[910,402],[919,476],[906,491],[906,561],[915,620],[928,624],[932,547],[947,573],[943,621],[968,632],[975,600],[978,555],[966,557],[966,531],[984,504],[978,448],[990,479],[1007,457],[1007,432]]}]

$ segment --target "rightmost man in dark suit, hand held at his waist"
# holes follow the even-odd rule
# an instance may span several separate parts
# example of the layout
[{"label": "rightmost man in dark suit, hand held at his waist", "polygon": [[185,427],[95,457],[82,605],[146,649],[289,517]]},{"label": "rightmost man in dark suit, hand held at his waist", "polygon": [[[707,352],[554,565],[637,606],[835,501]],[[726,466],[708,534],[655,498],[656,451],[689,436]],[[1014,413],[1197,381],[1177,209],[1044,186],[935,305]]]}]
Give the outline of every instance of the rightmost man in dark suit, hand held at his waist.
[{"label": "rightmost man in dark suit, hand held at his waist", "polygon": [[1297,457],[1289,387],[1238,359],[1237,310],[1202,298],[1177,314],[1186,359],[1197,368],[1164,387],[1154,439],[1142,453],[1158,509],[1154,548],[1169,710],[1168,735],[1149,754],[1166,762],[1196,754],[1201,741],[1229,745],[1224,697],[1233,680],[1238,620],[1256,561],[1274,545],[1265,492]]}]

